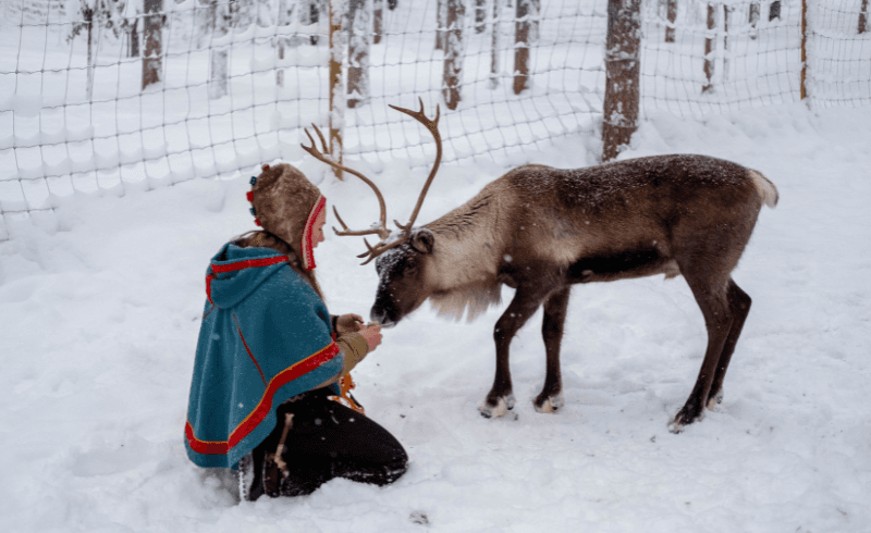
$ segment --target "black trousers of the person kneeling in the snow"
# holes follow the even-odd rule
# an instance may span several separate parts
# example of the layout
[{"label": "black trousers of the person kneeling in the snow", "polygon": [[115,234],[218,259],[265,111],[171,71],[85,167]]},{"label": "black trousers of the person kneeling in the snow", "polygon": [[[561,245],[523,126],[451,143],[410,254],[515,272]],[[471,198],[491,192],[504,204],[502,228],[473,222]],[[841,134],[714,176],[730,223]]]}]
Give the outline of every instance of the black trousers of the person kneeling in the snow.
[{"label": "black trousers of the person kneeling in the snow", "polygon": [[[328,398],[317,389],[285,401],[275,430],[252,453],[254,480],[249,498],[311,494],[333,478],[387,485],[405,473],[408,456],[387,430]],[[280,469],[274,454],[292,413]]]}]

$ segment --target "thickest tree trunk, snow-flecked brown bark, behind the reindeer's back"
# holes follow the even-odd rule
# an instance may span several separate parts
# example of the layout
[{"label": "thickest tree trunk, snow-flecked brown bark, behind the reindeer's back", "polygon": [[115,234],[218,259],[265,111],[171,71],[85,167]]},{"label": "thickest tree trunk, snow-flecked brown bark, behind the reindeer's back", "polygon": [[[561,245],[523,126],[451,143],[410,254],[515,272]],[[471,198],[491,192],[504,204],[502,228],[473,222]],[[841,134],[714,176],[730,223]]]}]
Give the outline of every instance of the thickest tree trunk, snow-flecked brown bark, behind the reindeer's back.
[{"label": "thickest tree trunk, snow-flecked brown bark, behind the reindeer's back", "polygon": [[608,0],[602,161],[617,157],[638,123],[641,0]]}]

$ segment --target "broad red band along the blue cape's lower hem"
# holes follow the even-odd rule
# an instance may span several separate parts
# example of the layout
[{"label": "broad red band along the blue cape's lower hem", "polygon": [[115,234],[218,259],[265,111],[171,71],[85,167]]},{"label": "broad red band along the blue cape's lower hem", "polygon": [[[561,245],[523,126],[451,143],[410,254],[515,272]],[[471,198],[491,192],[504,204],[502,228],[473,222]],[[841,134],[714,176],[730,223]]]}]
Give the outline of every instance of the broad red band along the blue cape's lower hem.
[{"label": "broad red band along the blue cape's lower hem", "polygon": [[323,349],[279,372],[272,377],[272,381],[269,382],[269,386],[267,386],[257,407],[254,408],[245,420],[240,422],[236,429],[230,433],[230,438],[226,441],[200,441],[194,435],[194,427],[191,425],[191,421],[187,421],[184,427],[184,434],[191,449],[203,455],[226,455],[231,448],[248,436],[248,434],[266,419],[266,416],[272,408],[272,396],[275,395],[275,391],[297,377],[311,372],[321,364],[331,361],[338,355],[339,346],[336,346],[335,343],[330,343]]}]

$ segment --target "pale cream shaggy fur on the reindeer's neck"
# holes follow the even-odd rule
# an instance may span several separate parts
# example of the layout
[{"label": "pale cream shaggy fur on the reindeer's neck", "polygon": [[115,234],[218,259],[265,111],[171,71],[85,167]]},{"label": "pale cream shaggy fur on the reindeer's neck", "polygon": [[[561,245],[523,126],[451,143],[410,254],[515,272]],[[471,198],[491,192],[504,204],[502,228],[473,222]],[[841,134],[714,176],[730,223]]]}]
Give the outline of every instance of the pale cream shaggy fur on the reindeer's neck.
[{"label": "pale cream shaggy fur on the reindeer's neck", "polygon": [[429,299],[439,314],[469,321],[501,300],[499,265],[504,237],[498,232],[506,202],[504,184],[486,186],[465,204],[426,225],[436,235],[427,265]]}]

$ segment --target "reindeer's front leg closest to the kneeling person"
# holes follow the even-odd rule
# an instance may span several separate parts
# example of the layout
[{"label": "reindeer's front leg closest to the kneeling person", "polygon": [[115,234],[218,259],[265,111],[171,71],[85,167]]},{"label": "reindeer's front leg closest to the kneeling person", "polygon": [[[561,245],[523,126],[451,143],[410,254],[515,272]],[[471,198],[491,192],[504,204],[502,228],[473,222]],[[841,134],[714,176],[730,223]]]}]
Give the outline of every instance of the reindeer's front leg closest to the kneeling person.
[{"label": "reindeer's front leg closest to the kneeling person", "polygon": [[508,347],[524,326],[541,305],[541,290],[528,287],[517,287],[514,299],[511,300],[508,308],[502,313],[493,329],[493,339],[496,344],[496,375],[493,380],[493,388],[487,395],[487,399],[478,408],[481,416],[486,418],[502,417],[514,407],[514,393],[511,384],[511,368],[508,367]]}]

